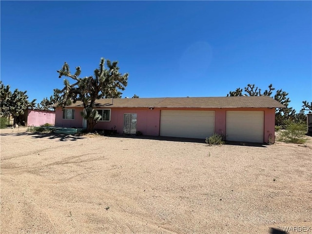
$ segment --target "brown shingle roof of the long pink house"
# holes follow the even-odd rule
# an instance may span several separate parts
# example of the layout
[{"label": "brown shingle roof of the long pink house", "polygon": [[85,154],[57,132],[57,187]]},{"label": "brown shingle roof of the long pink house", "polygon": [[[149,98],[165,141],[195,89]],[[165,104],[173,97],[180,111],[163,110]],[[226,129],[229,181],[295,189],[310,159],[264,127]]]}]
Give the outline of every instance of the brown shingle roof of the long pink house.
[{"label": "brown shingle roof of the long pink house", "polygon": [[[81,101],[67,107],[83,107]],[[214,98],[103,98],[96,100],[96,107],[113,108],[284,108],[269,96],[214,97]]]}]

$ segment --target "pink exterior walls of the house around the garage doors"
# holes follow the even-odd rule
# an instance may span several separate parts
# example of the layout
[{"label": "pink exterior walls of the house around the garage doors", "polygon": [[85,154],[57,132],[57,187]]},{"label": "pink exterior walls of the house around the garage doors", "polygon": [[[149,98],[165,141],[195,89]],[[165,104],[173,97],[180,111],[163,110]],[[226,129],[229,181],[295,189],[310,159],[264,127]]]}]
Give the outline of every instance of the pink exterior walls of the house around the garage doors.
[{"label": "pink exterior walls of the house around the garage doors", "polygon": [[[112,108],[111,121],[99,121],[96,129],[117,130],[117,133],[123,133],[123,114],[137,113],[137,131],[146,136],[159,136],[160,129],[160,111],[161,110],[201,110],[215,111],[215,132],[226,134],[226,111],[263,111],[264,112],[264,142],[275,141],[275,109],[270,108]],[[82,117],[80,112],[82,108],[76,108],[75,119],[62,119],[61,108],[56,109],[56,126],[62,127],[82,127]]]}]

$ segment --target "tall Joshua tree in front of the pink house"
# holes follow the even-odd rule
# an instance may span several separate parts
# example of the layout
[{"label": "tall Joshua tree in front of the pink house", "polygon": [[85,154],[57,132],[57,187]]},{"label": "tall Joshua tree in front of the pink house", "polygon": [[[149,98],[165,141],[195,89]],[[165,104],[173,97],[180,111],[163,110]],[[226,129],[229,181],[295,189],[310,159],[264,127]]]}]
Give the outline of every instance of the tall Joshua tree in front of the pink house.
[{"label": "tall Joshua tree in front of the pink house", "polygon": [[83,118],[87,120],[87,132],[94,131],[100,116],[95,109],[95,102],[99,98],[120,98],[121,92],[124,90],[128,82],[128,73],[120,74],[117,61],[111,62],[101,58],[99,67],[94,70],[94,76],[78,78],[81,70],[76,67],[76,72],[72,74],[69,65],[65,62],[62,68],[57,71],[59,78],[62,76],[72,78],[73,84],[64,79],[64,88],[62,90],[55,89],[59,94],[59,104],[62,107],[76,102],[82,101],[85,113],[81,112]]}]

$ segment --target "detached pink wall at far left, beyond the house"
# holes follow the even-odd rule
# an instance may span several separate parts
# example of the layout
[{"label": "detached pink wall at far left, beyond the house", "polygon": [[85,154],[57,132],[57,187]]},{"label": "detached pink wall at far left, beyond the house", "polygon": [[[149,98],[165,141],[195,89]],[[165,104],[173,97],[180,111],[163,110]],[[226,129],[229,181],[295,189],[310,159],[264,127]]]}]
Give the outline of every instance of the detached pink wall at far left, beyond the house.
[{"label": "detached pink wall at far left, beyond the house", "polygon": [[55,112],[43,110],[28,110],[27,126],[40,126],[45,123],[55,124]]}]

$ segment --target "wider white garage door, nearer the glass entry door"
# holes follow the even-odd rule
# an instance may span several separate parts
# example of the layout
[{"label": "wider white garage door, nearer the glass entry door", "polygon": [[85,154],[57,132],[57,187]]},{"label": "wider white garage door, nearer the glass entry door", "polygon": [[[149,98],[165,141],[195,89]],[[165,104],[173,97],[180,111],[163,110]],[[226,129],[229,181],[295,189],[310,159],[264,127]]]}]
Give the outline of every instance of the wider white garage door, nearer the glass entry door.
[{"label": "wider white garage door, nearer the glass entry door", "polygon": [[215,111],[161,111],[160,136],[205,139],[215,132]]}]

